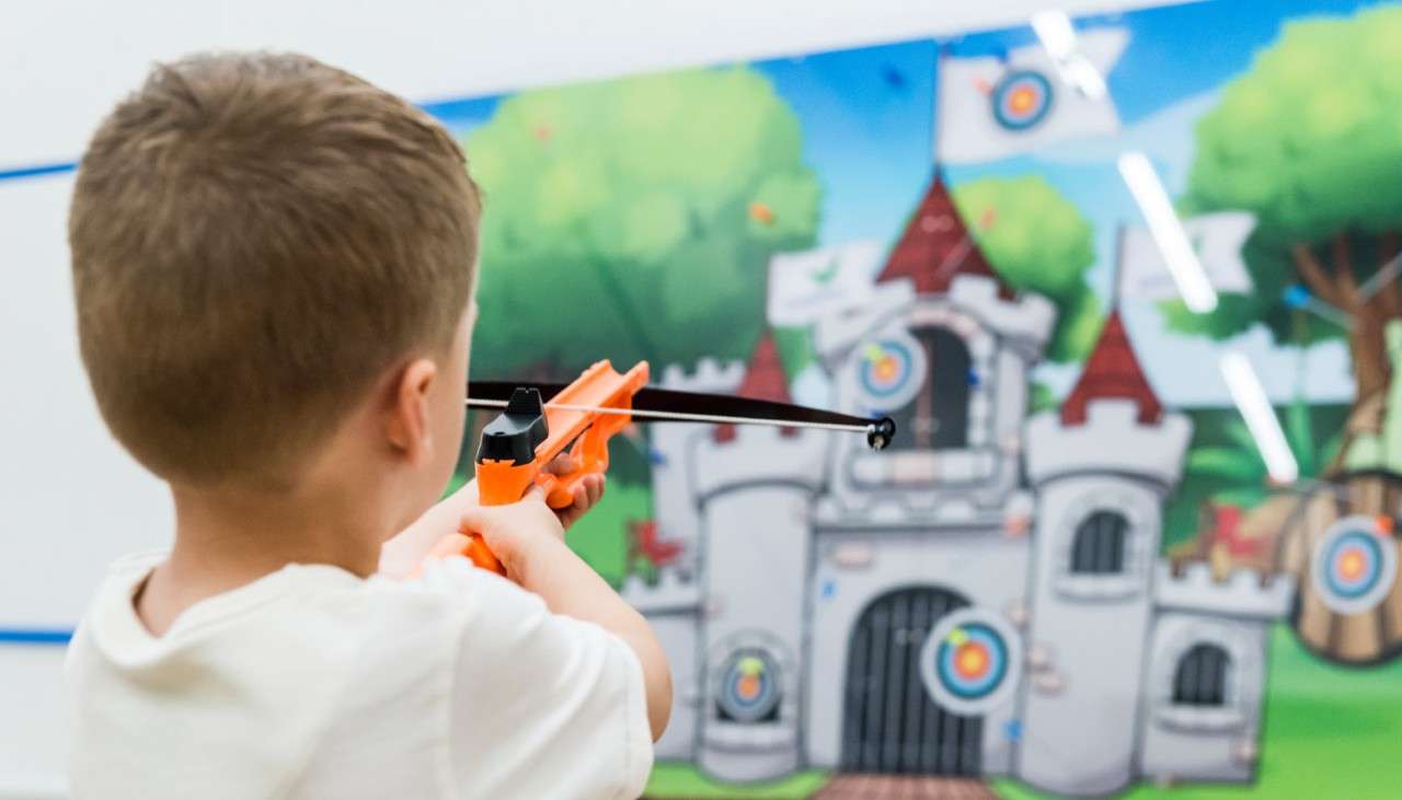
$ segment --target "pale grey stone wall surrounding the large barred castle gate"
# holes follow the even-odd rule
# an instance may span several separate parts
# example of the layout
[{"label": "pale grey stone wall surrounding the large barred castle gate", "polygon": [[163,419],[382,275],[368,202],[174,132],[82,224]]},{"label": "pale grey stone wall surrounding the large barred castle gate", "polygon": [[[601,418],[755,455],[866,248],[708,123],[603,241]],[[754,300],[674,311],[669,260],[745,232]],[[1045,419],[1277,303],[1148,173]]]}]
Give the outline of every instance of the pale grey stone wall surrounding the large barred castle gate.
[{"label": "pale grey stone wall surrounding the large barred castle gate", "polygon": [[[1016,625],[1025,612],[1028,541],[1000,530],[820,530],[815,542],[812,633],[806,681],[806,761],[836,768],[841,761],[843,701],[848,646],[862,611],[899,588],[931,586],[955,591],[976,607]],[[920,647],[923,642],[908,642]],[[1007,736],[1015,703],[984,716],[983,769],[1011,769]]]}]

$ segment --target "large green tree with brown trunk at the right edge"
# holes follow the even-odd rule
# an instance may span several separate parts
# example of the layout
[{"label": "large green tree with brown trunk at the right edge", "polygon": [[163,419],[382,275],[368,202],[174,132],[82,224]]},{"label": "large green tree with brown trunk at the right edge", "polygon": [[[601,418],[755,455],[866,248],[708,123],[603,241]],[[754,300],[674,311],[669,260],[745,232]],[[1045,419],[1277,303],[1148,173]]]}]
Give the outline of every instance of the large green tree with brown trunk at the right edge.
[{"label": "large green tree with brown trunk at the right edge", "polygon": [[[1197,125],[1180,207],[1244,209],[1259,219],[1245,247],[1255,289],[1211,314],[1165,304],[1169,325],[1224,339],[1260,322],[1280,342],[1345,336],[1354,402],[1387,385],[1382,326],[1402,315],[1388,282],[1360,286],[1398,252],[1402,230],[1402,8],[1293,22]],[[1304,284],[1353,317],[1349,329],[1301,318],[1286,290]]]}]

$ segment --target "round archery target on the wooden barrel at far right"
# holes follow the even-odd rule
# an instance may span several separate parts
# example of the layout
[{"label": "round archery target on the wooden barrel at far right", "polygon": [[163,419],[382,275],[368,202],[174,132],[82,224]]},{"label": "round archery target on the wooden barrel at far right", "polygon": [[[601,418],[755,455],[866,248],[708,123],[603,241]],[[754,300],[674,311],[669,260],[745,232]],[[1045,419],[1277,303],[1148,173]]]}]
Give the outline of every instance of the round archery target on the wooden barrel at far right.
[{"label": "round archery target on the wooden barrel at far right", "polygon": [[1375,518],[1361,514],[1330,525],[1309,562],[1315,591],[1339,614],[1375,608],[1392,590],[1396,570],[1392,535]]}]

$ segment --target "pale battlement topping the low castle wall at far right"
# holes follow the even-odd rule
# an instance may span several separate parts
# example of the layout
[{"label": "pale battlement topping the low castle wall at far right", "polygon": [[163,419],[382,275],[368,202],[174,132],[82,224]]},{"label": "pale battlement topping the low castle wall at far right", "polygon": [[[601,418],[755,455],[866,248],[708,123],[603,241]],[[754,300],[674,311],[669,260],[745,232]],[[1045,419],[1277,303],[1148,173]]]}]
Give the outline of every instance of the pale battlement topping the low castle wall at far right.
[{"label": "pale battlement topping the low castle wall at far right", "polygon": [[1154,604],[1161,609],[1279,619],[1290,612],[1294,594],[1291,574],[1273,574],[1262,581],[1262,573],[1238,569],[1218,581],[1207,562],[1193,562],[1182,574],[1173,574],[1168,562],[1161,560],[1154,576]]}]

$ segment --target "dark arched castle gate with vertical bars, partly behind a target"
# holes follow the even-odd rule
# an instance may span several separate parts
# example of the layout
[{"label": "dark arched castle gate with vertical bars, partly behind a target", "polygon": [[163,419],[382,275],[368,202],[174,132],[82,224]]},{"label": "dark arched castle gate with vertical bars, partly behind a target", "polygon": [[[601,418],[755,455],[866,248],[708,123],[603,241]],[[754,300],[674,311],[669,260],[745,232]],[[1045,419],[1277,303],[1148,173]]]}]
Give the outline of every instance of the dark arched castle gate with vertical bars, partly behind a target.
[{"label": "dark arched castle gate with vertical bars, partly behind a target", "polygon": [[862,611],[847,644],[843,771],[980,775],[983,717],[935,705],[920,674],[930,630],[967,605],[923,586],[886,593]]}]

